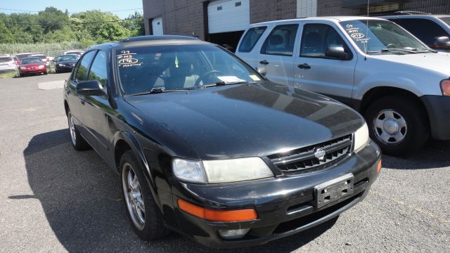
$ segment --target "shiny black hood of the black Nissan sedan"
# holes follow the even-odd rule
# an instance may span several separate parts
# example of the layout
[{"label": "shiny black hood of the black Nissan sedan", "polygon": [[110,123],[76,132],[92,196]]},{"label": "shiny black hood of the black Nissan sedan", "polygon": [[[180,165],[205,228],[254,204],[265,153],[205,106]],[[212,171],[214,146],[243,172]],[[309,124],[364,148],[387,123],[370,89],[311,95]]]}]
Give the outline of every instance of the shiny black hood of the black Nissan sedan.
[{"label": "shiny black hood of the black Nissan sedan", "polygon": [[342,103],[269,82],[125,100],[143,112],[144,124],[158,122],[203,160],[263,157],[345,136],[364,124]]}]

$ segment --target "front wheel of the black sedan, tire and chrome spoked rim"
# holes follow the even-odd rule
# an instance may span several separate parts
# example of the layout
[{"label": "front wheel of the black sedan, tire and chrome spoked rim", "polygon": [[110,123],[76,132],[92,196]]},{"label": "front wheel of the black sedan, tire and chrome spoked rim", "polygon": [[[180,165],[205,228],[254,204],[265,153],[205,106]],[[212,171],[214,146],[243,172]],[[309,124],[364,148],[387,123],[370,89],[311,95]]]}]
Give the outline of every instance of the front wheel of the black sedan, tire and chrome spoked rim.
[{"label": "front wheel of the black sedan, tire and chrome spoked rim", "polygon": [[125,209],[134,232],[142,240],[162,238],[167,234],[167,228],[141,166],[131,150],[120,159],[120,174]]}]

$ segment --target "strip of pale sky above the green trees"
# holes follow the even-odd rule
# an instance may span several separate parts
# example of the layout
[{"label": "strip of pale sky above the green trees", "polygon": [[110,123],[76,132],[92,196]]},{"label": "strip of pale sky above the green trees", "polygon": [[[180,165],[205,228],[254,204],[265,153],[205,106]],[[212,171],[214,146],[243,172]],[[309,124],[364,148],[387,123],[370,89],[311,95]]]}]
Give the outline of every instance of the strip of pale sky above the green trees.
[{"label": "strip of pale sky above the green trees", "polygon": [[[127,18],[129,14],[138,11],[142,13],[142,0],[0,0],[0,13],[37,13],[44,11],[46,7],[53,6],[61,11],[68,9],[69,14],[81,11],[100,10],[110,11],[120,18]],[[10,10],[5,10],[10,9]],[[19,10],[19,11],[12,11]]]}]

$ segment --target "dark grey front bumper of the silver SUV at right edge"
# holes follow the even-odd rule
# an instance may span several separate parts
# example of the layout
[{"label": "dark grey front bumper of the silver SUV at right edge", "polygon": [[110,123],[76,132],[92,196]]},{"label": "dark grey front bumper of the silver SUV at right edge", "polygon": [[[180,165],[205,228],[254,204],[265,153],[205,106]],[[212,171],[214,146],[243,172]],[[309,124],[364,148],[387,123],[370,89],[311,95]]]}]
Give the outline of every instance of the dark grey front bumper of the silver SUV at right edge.
[{"label": "dark grey front bumper of the silver SUV at right edge", "polygon": [[450,96],[425,95],[420,98],[428,112],[432,138],[449,140]]}]

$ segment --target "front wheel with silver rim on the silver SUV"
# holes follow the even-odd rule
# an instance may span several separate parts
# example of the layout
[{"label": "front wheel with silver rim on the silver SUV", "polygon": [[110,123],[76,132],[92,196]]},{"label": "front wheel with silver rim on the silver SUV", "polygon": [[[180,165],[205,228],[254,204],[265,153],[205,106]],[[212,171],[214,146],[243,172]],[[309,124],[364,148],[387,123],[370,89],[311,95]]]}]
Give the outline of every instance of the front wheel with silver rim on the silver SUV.
[{"label": "front wheel with silver rim on the silver SUV", "polygon": [[364,117],[372,140],[388,155],[413,153],[430,136],[426,112],[411,98],[379,98],[368,107]]}]

